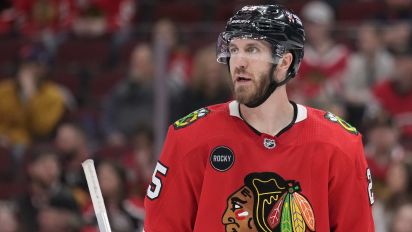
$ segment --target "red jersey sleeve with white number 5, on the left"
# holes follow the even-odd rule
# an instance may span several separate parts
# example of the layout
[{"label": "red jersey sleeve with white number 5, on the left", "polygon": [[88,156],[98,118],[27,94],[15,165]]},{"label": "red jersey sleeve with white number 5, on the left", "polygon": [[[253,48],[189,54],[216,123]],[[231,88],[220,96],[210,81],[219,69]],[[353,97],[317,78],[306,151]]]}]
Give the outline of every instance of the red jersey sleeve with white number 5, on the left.
[{"label": "red jersey sleeve with white number 5, on the left", "polygon": [[193,231],[205,167],[200,152],[169,127],[145,198],[145,232]]}]

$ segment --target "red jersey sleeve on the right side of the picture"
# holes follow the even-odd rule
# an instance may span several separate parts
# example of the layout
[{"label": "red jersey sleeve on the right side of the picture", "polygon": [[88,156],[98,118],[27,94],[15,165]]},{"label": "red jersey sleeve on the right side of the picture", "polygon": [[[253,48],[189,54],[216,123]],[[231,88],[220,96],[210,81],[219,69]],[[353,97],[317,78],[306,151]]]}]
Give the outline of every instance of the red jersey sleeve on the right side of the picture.
[{"label": "red jersey sleeve on the right side of the picture", "polygon": [[[350,152],[337,151],[331,160],[329,223],[331,231],[374,231],[372,179],[361,136]],[[351,146],[351,144],[348,144]]]}]

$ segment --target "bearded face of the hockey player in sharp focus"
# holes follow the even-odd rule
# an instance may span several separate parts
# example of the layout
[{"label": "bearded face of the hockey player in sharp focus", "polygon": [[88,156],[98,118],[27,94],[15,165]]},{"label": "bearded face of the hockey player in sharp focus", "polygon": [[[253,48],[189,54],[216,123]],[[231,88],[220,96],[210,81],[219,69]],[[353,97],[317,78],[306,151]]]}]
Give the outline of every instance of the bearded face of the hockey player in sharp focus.
[{"label": "bearded face of the hockey player in sharp focus", "polygon": [[272,48],[263,40],[233,39],[229,44],[234,97],[241,104],[255,102],[269,86]]}]

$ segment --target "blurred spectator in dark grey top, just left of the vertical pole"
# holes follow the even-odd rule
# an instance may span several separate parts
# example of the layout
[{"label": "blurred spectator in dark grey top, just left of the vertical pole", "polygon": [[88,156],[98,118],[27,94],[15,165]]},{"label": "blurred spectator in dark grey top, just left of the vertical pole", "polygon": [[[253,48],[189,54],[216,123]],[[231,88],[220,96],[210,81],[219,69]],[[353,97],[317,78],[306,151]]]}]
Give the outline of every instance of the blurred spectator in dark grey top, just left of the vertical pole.
[{"label": "blurred spectator in dark grey top, just left of the vertical pole", "polygon": [[153,57],[148,44],[137,45],[129,72],[105,101],[103,132],[109,144],[125,145],[137,125],[153,121]]}]

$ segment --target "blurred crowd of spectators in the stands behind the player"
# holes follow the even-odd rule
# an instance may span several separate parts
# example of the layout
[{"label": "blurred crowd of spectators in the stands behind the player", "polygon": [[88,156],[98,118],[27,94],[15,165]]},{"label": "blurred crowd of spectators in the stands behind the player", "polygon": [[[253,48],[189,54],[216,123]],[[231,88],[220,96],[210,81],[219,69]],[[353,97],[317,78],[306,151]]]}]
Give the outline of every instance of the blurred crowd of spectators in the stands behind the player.
[{"label": "blurred crowd of spectators in the stands behind the player", "polygon": [[[307,38],[291,99],[358,128],[376,231],[411,232],[412,0],[279,2],[301,16]],[[112,230],[141,231],[159,149],[156,78],[168,124],[231,100],[215,40],[246,3],[256,1],[199,1],[200,17],[183,0],[2,1],[0,231],[98,231],[88,158]]]}]

